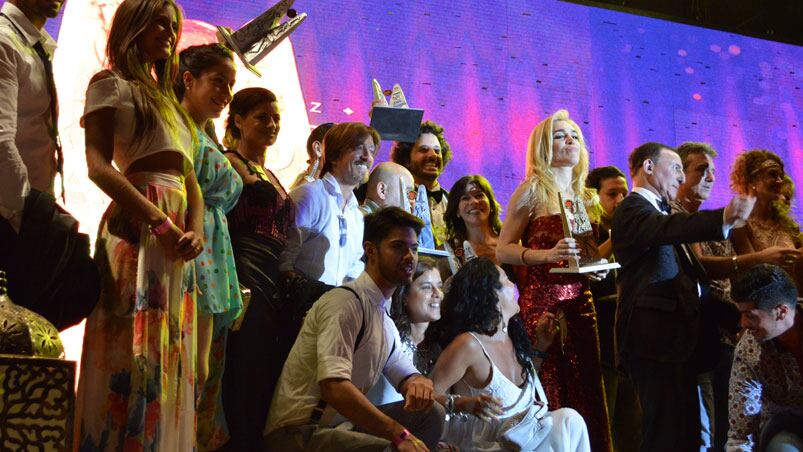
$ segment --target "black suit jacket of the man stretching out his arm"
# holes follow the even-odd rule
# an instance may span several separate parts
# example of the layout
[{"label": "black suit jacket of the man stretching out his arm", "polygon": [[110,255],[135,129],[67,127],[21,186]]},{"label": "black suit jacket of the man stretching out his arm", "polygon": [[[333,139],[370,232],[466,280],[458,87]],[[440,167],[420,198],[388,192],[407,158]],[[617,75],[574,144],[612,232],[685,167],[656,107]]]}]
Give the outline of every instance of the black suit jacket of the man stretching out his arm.
[{"label": "black suit jacket of the man stretching out his arm", "polygon": [[722,240],[723,211],[663,215],[638,193],[616,208],[611,237],[617,278],[617,363],[688,362],[699,332],[704,271],[684,243]]}]

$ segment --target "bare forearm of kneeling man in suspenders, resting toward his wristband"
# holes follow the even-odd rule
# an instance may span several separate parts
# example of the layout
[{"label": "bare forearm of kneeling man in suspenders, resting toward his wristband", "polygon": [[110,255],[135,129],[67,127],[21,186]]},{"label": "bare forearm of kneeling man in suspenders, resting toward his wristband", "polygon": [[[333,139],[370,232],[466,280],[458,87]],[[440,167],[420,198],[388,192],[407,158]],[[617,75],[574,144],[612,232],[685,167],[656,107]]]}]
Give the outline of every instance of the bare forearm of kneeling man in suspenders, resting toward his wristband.
[{"label": "bare forearm of kneeling man in suspenders, resting toward his wristband", "polygon": [[404,426],[379,411],[349,380],[321,383],[321,397],[366,432],[392,441]]}]

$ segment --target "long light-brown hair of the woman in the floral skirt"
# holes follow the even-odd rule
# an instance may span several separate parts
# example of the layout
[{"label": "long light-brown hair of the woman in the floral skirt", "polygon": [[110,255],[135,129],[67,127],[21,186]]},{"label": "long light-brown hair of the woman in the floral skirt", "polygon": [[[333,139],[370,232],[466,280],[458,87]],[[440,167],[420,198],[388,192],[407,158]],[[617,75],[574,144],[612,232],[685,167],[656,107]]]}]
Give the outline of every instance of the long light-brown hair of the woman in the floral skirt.
[{"label": "long light-brown hair of the woman in the floral skirt", "polygon": [[[155,61],[151,65],[145,61],[145,54],[139,48],[137,40],[165,6],[170,6],[176,13],[176,41],[167,59]],[[147,133],[160,120],[170,129],[176,130],[179,126],[177,120],[181,118],[192,133],[195,143],[197,138],[192,118],[181,108],[173,92],[173,80],[178,74],[176,47],[181,38],[182,22],[181,9],[173,0],[124,0],[114,13],[106,57],[113,72],[140,88],[134,91],[137,134]],[[137,91],[142,94],[138,95]]]}]

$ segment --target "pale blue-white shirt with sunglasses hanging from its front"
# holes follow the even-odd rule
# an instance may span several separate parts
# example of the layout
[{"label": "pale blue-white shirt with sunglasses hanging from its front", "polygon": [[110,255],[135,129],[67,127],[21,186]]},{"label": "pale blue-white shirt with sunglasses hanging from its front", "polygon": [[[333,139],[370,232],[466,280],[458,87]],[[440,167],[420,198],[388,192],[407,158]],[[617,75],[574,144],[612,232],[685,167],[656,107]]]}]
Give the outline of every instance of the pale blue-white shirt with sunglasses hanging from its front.
[{"label": "pale blue-white shirt with sunglasses hanging from its front", "polygon": [[341,209],[340,184],[327,173],[291,191],[290,198],[296,204],[295,227],[288,230],[279,270],[333,286],[359,276],[365,268],[363,214],[354,195]]}]

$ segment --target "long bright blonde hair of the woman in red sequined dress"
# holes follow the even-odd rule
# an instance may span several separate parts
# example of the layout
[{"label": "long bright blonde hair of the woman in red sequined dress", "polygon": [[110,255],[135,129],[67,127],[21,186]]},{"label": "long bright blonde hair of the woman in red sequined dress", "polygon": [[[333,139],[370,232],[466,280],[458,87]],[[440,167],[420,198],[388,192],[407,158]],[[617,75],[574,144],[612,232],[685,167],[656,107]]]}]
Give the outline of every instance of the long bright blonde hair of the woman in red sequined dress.
[{"label": "long bright blonde hair of the woman in red sequined dress", "polygon": [[583,131],[580,126],[569,118],[569,112],[558,110],[535,126],[527,143],[527,179],[528,190],[522,196],[519,207],[527,206],[532,213],[536,205],[544,205],[548,211],[560,209],[558,204],[558,189],[555,175],[552,173],[552,125],[555,121],[566,121],[577,132],[580,144],[580,160],[572,168],[572,191],[585,204],[592,219],[596,209],[589,209],[598,203],[596,190],[586,188],[588,176],[588,149],[586,148]]}]

